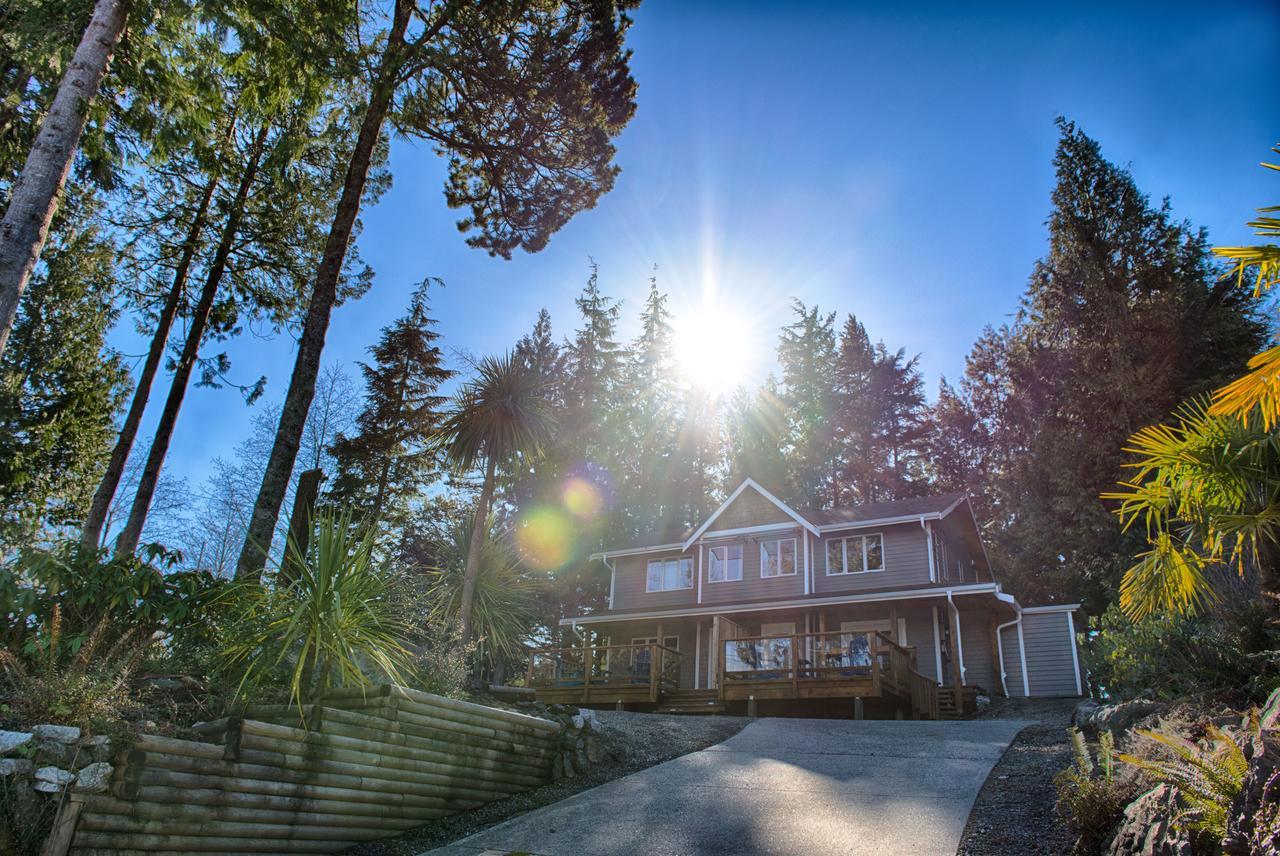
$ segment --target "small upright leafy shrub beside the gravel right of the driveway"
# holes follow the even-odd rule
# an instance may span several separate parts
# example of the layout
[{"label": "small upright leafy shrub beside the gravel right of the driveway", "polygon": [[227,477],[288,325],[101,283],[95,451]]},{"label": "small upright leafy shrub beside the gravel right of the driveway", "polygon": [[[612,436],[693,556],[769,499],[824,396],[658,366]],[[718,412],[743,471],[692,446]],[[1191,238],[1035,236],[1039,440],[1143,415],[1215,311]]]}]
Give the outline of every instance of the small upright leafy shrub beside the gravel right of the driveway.
[{"label": "small upright leafy shrub beside the gravel right of the driveway", "polygon": [[1069,728],[1071,766],[1053,778],[1057,786],[1057,814],[1075,834],[1076,853],[1101,853],[1111,841],[1116,824],[1137,788],[1132,779],[1116,774],[1115,738],[1103,732],[1097,759],[1089,751],[1083,732]]}]

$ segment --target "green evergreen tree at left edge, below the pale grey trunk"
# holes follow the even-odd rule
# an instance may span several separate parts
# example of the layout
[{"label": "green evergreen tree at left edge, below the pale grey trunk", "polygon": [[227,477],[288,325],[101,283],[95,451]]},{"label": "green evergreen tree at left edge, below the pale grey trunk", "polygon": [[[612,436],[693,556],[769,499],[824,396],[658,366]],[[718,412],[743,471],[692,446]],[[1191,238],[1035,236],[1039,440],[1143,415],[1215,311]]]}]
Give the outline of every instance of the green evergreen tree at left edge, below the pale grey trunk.
[{"label": "green evergreen tree at left edge, below the pale grey trunk", "polygon": [[63,203],[0,360],[0,541],[79,519],[114,432],[127,372],[106,348],[115,247],[88,202]]}]

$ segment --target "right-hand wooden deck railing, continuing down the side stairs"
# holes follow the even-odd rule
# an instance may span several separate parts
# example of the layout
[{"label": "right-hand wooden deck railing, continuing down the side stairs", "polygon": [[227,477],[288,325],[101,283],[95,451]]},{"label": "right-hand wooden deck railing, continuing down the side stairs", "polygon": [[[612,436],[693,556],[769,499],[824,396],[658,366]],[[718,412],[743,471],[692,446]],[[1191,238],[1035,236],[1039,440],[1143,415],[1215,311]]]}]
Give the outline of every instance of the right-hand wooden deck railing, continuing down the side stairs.
[{"label": "right-hand wooden deck railing, continuing down the side stairs", "polygon": [[882,632],[832,631],[727,638],[722,699],[893,695],[914,715],[937,719],[937,686],[915,670],[915,653]]}]

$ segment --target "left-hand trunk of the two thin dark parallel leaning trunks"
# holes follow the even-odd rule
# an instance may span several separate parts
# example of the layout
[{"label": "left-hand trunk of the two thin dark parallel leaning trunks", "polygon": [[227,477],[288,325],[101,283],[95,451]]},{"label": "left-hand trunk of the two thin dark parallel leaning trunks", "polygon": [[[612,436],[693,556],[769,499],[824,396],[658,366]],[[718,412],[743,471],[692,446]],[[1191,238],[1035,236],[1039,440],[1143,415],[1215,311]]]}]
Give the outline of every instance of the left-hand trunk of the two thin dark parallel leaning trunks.
[{"label": "left-hand trunk of the two thin dark parallel leaning trunks", "polygon": [[93,503],[90,505],[88,516],[84,518],[84,528],[81,532],[81,544],[86,549],[97,549],[102,541],[102,527],[106,523],[111,500],[120,486],[120,477],[124,475],[124,464],[129,459],[133,449],[133,440],[138,436],[138,426],[142,424],[142,413],[147,408],[147,399],[151,398],[151,384],[155,383],[156,372],[160,370],[160,360],[164,349],[169,344],[169,331],[173,321],[178,316],[178,306],[182,302],[183,292],[187,290],[187,275],[191,273],[191,262],[196,257],[200,246],[200,234],[205,230],[205,220],[209,216],[209,206],[214,198],[218,179],[210,178],[205,186],[205,192],[200,197],[200,206],[187,229],[187,238],[182,246],[182,255],[178,257],[178,266],[173,274],[173,285],[165,297],[160,317],[156,319],[156,329],[151,334],[151,348],[147,351],[147,360],[142,363],[142,374],[138,376],[138,385],[133,390],[133,400],[129,402],[129,412],[124,416],[124,425],[120,426],[120,435],[111,449],[111,458],[106,463],[106,472],[93,494]]}]

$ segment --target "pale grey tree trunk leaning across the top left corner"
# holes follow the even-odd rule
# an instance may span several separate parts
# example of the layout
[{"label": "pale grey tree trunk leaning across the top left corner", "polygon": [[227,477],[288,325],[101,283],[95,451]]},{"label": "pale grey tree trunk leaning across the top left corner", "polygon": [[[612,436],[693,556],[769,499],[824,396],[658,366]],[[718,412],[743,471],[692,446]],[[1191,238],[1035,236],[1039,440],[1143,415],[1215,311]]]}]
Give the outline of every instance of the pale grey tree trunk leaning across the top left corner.
[{"label": "pale grey tree trunk leaning across the top left corner", "polygon": [[49,237],[58,193],[67,182],[88,120],[88,105],[106,75],[124,32],[128,0],[97,0],[93,17],[76,47],[49,115],[27,154],[27,162],[0,221],[0,354],[9,343],[18,301]]}]

